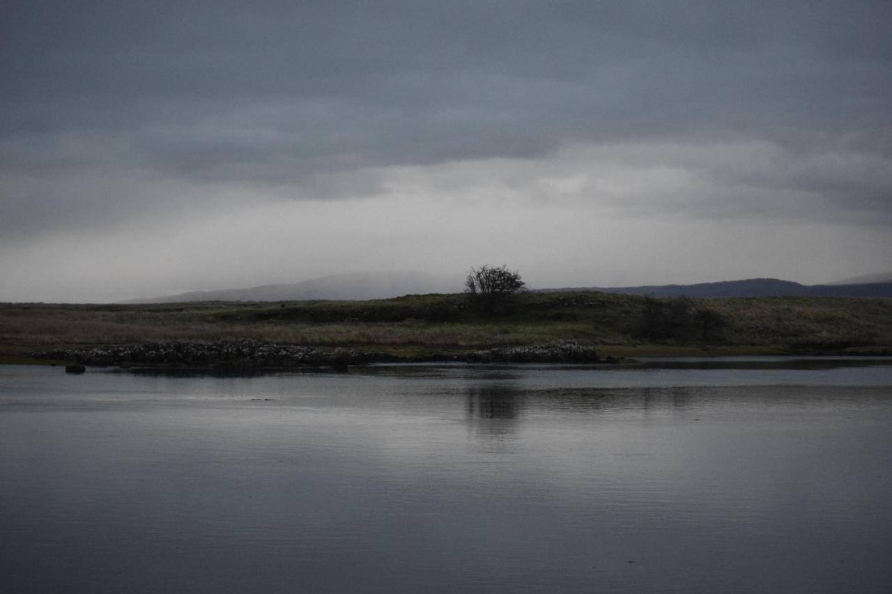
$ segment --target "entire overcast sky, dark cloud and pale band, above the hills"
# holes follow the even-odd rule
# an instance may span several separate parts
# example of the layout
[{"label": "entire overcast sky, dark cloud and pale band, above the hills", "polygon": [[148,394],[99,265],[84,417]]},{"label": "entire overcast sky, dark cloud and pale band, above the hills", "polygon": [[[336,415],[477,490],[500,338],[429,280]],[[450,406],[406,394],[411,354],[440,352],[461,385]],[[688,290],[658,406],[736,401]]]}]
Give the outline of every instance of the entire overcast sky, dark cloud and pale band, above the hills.
[{"label": "entire overcast sky, dark cloud and pale band, above the hills", "polygon": [[0,301],[888,271],[890,22],[888,0],[12,0]]}]

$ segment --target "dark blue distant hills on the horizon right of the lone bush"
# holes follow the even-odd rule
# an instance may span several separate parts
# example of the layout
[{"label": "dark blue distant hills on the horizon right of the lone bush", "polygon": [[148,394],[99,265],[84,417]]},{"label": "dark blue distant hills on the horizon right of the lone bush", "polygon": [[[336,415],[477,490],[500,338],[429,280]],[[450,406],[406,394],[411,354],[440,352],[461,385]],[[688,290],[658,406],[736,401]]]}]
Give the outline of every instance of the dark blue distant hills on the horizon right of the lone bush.
[{"label": "dark blue distant hills on the horizon right of the lone bush", "polygon": [[574,287],[547,291],[600,291],[653,297],[892,297],[892,283],[859,283],[850,285],[799,285],[777,278],[748,278],[698,285],[642,285],[618,287]]}]

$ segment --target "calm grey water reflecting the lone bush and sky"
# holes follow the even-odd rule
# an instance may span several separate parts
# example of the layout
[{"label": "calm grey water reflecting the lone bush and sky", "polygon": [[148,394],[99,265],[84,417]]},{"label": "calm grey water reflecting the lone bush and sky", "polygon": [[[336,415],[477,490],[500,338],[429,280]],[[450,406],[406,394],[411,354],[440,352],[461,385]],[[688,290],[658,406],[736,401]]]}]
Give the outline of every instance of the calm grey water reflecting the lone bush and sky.
[{"label": "calm grey water reflecting the lone bush and sky", "polygon": [[892,361],[0,366],[2,592],[889,592]]}]

